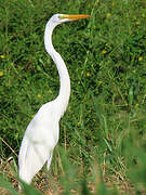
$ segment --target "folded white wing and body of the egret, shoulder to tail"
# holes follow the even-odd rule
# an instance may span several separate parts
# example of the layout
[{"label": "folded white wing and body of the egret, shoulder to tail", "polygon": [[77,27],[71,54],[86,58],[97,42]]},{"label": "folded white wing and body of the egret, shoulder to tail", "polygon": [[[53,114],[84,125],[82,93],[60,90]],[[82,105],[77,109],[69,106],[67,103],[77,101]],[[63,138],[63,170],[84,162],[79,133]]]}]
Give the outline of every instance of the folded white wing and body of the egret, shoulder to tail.
[{"label": "folded white wing and body of the egret, shoulder to tail", "polygon": [[57,143],[58,120],[54,113],[51,104],[41,107],[26,129],[18,165],[19,177],[27,183],[42,168]]}]

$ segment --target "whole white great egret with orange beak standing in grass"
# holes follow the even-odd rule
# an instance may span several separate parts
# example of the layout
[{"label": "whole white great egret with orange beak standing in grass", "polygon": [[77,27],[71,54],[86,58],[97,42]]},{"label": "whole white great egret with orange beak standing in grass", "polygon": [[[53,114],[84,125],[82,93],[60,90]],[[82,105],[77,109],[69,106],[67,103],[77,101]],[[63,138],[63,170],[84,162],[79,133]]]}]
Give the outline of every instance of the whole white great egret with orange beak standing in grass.
[{"label": "whole white great egret with orange beak standing in grass", "polygon": [[28,125],[18,154],[19,179],[30,184],[34,176],[43,167],[45,161],[49,170],[53,150],[58,141],[58,122],[64,115],[70,95],[70,79],[66,65],[52,44],[53,29],[65,22],[87,18],[90,15],[55,14],[47,23],[44,46],[47,52],[56,64],[59,74],[58,96],[43,104]]}]

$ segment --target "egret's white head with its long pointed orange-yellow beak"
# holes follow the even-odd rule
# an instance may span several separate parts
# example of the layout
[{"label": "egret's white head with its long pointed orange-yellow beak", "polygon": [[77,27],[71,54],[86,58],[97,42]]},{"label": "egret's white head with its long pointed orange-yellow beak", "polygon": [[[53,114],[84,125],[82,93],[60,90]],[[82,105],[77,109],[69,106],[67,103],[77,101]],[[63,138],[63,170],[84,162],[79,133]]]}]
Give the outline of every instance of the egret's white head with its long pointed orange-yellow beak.
[{"label": "egret's white head with its long pointed orange-yellow beak", "polygon": [[67,14],[55,14],[51,17],[54,24],[62,24],[69,21],[76,21],[81,18],[90,17],[90,15],[67,15]]}]

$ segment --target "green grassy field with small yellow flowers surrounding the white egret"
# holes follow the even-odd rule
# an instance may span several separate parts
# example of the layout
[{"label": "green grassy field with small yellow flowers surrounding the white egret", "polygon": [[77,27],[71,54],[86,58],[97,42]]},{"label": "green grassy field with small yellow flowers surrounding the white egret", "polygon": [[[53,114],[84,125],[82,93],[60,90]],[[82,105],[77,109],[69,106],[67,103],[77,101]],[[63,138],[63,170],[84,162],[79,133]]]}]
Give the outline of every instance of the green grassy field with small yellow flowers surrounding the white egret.
[{"label": "green grassy field with small yellow flowers surrounding the white egret", "polygon": [[44,167],[32,185],[43,194],[146,194],[145,0],[0,0],[0,194],[18,194],[25,129],[58,94],[43,44],[55,13],[92,17],[54,31],[71,95],[50,173]]}]

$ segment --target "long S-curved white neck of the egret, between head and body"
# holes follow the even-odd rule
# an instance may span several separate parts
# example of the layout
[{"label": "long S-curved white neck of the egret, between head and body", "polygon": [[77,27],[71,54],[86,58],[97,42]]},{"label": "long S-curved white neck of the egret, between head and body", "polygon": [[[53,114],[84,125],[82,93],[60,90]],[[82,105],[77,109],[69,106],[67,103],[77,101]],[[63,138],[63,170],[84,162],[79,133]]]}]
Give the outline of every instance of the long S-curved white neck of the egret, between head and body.
[{"label": "long S-curved white neck of the egret, between head and body", "polygon": [[69,96],[70,96],[70,79],[69,79],[69,74],[67,70],[67,67],[64,63],[64,60],[57,53],[52,44],[52,32],[53,29],[55,28],[55,25],[53,26],[52,23],[48,22],[45,26],[45,31],[44,31],[44,46],[47,52],[51,55],[52,60],[56,64],[58,74],[59,74],[59,81],[61,81],[61,87],[59,87],[59,93],[56,100],[61,103],[61,109],[62,113],[61,115],[63,116],[64,112],[67,108]]}]

